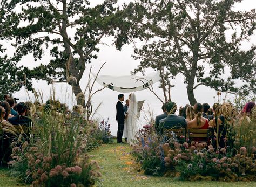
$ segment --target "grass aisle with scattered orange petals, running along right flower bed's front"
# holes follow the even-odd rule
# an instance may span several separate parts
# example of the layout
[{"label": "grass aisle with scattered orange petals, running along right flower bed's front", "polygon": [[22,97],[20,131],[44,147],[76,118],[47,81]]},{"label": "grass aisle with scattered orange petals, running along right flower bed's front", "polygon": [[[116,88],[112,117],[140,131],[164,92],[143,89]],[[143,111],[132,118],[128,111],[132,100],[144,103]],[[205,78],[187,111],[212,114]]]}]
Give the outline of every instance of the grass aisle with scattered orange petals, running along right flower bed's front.
[{"label": "grass aisle with scattered orange petals, running along right flower bed's front", "polygon": [[181,182],[172,181],[167,177],[152,177],[137,172],[134,158],[130,155],[129,144],[103,144],[102,147],[90,153],[91,159],[96,160],[100,167],[102,177],[101,185],[108,186],[256,186],[256,182]]}]

